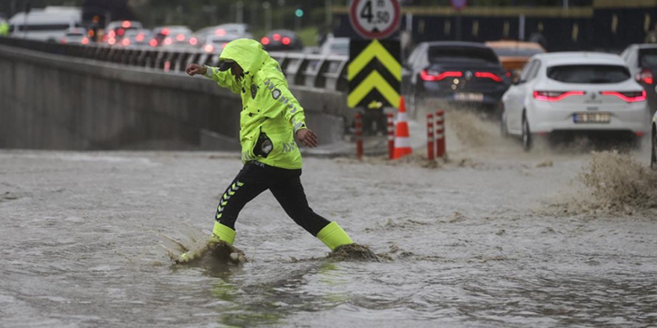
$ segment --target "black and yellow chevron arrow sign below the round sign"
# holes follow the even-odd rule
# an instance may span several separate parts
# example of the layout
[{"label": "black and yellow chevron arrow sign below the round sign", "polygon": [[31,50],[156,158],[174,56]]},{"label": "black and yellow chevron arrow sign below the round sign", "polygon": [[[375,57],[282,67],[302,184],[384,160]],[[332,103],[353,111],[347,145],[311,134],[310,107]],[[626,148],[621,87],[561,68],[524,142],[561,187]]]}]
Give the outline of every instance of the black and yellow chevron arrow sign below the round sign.
[{"label": "black and yellow chevron arrow sign below the round sign", "polygon": [[401,86],[399,41],[352,39],[349,52],[347,105],[397,108]]}]

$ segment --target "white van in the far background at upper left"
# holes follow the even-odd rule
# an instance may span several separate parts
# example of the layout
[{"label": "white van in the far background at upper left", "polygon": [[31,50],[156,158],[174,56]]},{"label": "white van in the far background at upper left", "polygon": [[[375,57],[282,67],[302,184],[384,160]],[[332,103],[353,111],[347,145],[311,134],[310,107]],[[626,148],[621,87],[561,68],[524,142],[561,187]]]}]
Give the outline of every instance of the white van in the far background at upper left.
[{"label": "white van in the far background at upper left", "polygon": [[9,20],[12,37],[58,42],[70,28],[81,27],[81,10],[76,7],[45,7],[27,15],[19,12]]}]

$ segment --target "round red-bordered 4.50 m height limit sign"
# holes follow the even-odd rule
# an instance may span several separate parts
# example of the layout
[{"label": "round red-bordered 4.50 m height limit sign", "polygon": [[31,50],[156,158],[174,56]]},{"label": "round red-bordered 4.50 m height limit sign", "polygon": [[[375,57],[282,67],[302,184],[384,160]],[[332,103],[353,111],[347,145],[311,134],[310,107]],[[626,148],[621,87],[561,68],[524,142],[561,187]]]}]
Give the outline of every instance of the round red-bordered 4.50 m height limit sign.
[{"label": "round red-bordered 4.50 m height limit sign", "polygon": [[400,18],[397,0],[351,0],[351,26],[365,39],[386,39],[397,31]]}]

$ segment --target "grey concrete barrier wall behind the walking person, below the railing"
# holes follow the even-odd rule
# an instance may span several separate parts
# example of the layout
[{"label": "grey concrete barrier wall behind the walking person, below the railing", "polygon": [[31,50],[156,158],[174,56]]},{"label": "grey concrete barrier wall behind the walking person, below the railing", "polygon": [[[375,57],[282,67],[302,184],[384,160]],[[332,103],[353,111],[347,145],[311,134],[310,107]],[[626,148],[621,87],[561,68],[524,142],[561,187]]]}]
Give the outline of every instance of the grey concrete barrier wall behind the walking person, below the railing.
[{"label": "grey concrete barrier wall behind the walking person, below the railing", "polygon": [[[292,92],[323,142],[342,138],[344,94]],[[238,150],[240,109],[204,77],[0,45],[0,148]]]}]

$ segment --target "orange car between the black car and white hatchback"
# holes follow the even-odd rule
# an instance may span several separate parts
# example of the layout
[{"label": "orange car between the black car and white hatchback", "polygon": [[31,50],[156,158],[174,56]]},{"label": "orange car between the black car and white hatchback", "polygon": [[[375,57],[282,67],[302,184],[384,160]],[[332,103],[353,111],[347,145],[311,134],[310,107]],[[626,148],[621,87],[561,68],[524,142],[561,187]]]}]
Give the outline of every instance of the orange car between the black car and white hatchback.
[{"label": "orange car between the black car and white hatchback", "polygon": [[503,40],[487,41],[485,44],[495,51],[502,67],[507,70],[507,77],[517,77],[531,56],[545,52],[545,49],[535,42]]}]

